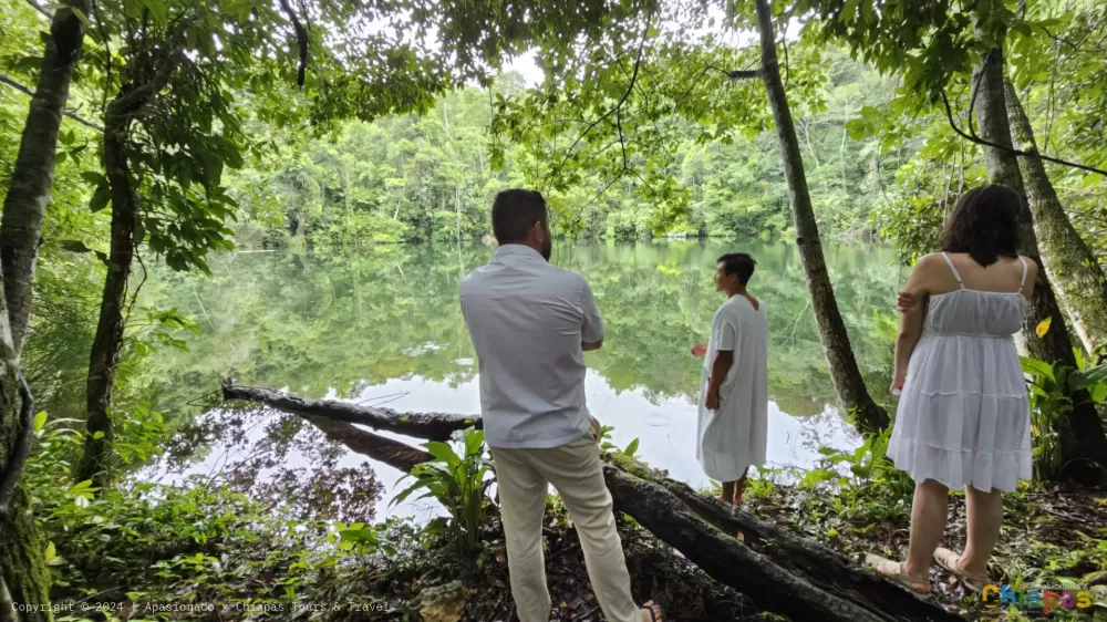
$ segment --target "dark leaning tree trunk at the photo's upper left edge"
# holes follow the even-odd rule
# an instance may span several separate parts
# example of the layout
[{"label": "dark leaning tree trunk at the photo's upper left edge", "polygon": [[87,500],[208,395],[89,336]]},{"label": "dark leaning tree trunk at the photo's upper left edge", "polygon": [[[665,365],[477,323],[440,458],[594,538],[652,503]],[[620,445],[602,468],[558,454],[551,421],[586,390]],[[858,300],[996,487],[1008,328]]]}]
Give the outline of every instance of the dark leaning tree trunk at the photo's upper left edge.
[{"label": "dark leaning tree trunk at the photo's upper left edge", "polygon": [[84,0],[70,2],[72,8],[58,9],[50,23],[39,83],[3,203],[0,262],[17,356],[23,350],[23,335],[31,318],[31,282],[42,238],[42,219],[54,185],[58,129],[69,100],[73,68],[84,43],[84,22],[73,10],[86,11],[85,4]]}]

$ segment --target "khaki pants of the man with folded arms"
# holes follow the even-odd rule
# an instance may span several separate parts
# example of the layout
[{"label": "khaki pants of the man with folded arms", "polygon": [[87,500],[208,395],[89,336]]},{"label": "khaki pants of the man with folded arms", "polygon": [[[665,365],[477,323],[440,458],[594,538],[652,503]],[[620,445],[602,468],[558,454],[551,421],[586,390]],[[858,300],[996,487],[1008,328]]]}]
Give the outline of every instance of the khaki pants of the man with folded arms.
[{"label": "khaki pants of the man with folded arms", "polygon": [[584,566],[603,615],[610,622],[642,622],[630,593],[630,576],[596,439],[586,434],[552,449],[492,448],[492,456],[507,538],[511,595],[520,622],[550,619],[552,603],[542,557],[542,516],[549,484],[561,495],[577,527]]}]

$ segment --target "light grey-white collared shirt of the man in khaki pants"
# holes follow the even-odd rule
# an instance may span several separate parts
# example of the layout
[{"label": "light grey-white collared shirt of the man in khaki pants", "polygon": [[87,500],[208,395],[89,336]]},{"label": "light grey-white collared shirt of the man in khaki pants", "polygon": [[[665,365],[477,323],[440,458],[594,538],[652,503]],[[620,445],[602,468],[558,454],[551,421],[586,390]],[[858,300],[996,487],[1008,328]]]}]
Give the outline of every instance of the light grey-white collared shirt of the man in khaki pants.
[{"label": "light grey-white collared shirt of the man in khaki pants", "polygon": [[603,339],[603,320],[584,277],[505,245],[462,281],[461,302],[488,445],[560,447],[587,434],[581,343]]}]

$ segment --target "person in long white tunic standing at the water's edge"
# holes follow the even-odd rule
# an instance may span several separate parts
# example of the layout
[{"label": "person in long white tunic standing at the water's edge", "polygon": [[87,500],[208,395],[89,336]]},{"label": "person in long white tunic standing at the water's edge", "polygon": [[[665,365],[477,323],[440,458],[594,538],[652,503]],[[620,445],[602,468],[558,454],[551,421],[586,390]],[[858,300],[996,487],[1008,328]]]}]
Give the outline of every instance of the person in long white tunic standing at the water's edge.
[{"label": "person in long white tunic standing at the water's edge", "polygon": [[692,346],[693,355],[705,356],[696,458],[723,484],[722,500],[735,506],[749,467],[765,464],[768,433],[768,320],[746,290],[755,266],[744,252],[718,258],[715,289],[726,302],[711,321],[711,342]]}]

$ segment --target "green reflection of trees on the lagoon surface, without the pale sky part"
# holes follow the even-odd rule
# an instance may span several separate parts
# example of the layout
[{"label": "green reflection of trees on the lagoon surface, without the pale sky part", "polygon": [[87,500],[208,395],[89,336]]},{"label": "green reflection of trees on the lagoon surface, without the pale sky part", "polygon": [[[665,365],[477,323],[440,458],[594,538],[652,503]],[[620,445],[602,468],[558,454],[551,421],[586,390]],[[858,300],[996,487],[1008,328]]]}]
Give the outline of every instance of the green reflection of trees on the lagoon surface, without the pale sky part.
[{"label": "green reflection of trees on the lagoon surface, without the pale sky part", "polygon": [[[555,261],[586,273],[608,323],[607,346],[588,363],[617,392],[654,403],[694,397],[700,362],[687,353],[707,338],[722,302],[714,260],[731,248],[758,259],[755,292],[769,312],[770,391],[789,414],[820,413],[834,391],[808,308],[803,270],[785,245],[674,242],[559,248]],[[420,376],[457,386],[476,375],[457,304],[457,284],[493,250],[477,246],[381,246],[309,258],[224,256],[215,277],[157,271],[146,298],[194,317],[203,339],[165,352],[151,373],[164,379],[159,407],[186,403],[220,377],[340,397],[391,379]],[[862,370],[883,382],[890,365],[891,301],[899,282],[891,253],[838,248],[830,276]]]}]

